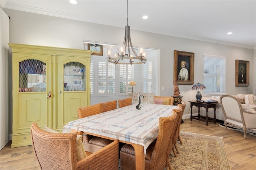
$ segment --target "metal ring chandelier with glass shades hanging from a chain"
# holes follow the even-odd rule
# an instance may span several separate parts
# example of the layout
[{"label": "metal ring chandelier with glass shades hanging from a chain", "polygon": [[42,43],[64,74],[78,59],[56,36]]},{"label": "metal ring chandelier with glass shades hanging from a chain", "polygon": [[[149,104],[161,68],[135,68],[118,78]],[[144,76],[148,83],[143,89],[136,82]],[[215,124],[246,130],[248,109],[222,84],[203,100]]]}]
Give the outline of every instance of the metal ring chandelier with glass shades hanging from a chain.
[{"label": "metal ring chandelier with glass shades hanging from a chain", "polygon": [[[126,53],[126,49],[128,53]],[[132,50],[134,56],[130,53]],[[146,53],[144,52],[144,46],[138,46],[138,55],[136,54],[131,41],[130,26],[128,26],[128,0],[127,0],[127,25],[125,26],[125,35],[123,44],[118,45],[118,53],[112,56],[112,48],[107,49],[108,62],[114,64],[142,64],[146,63]]]}]

